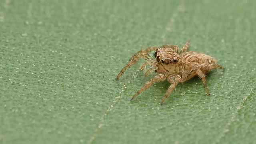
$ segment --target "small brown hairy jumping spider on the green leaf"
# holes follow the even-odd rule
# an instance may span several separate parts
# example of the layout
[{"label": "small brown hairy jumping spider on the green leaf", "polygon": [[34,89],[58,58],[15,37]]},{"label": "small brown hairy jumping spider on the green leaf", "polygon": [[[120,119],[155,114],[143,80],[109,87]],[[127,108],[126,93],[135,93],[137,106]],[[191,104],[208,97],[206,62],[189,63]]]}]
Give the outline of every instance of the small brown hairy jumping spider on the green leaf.
[{"label": "small brown hairy jumping spider on the green leaf", "polygon": [[[170,82],[170,86],[162,99],[161,105],[166,98],[172,93],[177,84],[185,82],[194,76],[199,76],[202,79],[204,88],[208,96],[210,91],[206,84],[205,74],[214,68],[224,69],[224,67],[216,64],[218,61],[214,60],[211,56],[197,52],[186,52],[190,42],[182,47],[179,52],[177,45],[165,44],[161,48],[149,47],[144,50],[138,51],[124,68],[120,71],[116,80],[132,65],[134,65],[140,58],[145,58],[146,62],[140,67],[140,71],[144,70],[146,66],[150,66],[145,72],[145,76],[148,76],[152,71],[159,73],[154,76],[150,81],[146,82],[136,94],[132,97],[132,100],[136,98],[141,92],[152,86],[156,82],[167,80]],[[150,52],[154,51],[154,57],[150,56]]]}]

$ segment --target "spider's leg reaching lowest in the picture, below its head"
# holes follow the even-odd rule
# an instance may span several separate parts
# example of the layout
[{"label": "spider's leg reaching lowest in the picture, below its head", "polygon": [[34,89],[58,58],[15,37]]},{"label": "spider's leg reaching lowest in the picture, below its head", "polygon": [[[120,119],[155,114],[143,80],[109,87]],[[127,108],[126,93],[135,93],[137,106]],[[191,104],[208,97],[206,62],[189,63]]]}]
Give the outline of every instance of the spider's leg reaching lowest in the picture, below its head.
[{"label": "spider's leg reaching lowest in the picture, below its head", "polygon": [[164,103],[165,99],[172,93],[176,85],[181,82],[182,79],[181,79],[181,76],[176,75],[176,76],[168,76],[167,80],[168,82],[171,83],[171,85],[169,86],[167,92],[165,93],[164,98],[161,102],[161,105]]}]

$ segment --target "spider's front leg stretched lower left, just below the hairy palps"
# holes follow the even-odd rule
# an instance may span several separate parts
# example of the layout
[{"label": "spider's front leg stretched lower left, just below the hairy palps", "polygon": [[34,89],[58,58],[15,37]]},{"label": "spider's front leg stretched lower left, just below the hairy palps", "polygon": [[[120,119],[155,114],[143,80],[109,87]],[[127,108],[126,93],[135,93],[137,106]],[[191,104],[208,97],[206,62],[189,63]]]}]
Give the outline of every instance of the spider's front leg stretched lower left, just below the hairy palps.
[{"label": "spider's front leg stretched lower left, just below the hairy palps", "polygon": [[142,86],[140,90],[136,92],[136,94],[134,94],[134,96],[132,97],[132,100],[136,98],[136,96],[138,96],[141,92],[143,92],[144,90],[152,86],[154,83],[163,81],[165,79],[166,79],[166,75],[164,74],[158,74],[157,76],[153,77],[150,81],[146,82],[146,84],[144,84],[144,86]]}]

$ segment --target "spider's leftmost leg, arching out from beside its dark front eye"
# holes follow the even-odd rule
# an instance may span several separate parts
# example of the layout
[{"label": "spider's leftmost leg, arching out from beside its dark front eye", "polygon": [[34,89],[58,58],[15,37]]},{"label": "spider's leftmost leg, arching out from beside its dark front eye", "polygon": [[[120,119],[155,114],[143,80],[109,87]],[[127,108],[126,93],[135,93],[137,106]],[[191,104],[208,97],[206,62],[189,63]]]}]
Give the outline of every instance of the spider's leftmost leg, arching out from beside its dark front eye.
[{"label": "spider's leftmost leg, arching out from beside its dark front eye", "polygon": [[140,50],[138,51],[128,62],[128,64],[126,66],[124,66],[124,68],[120,71],[120,73],[116,76],[116,80],[118,80],[120,78],[120,76],[122,76],[122,74],[128,69],[130,68],[132,65],[134,65],[141,57],[142,58],[146,58],[146,59],[153,59],[148,52],[151,51],[156,51],[156,47],[149,47],[146,48],[144,50]]}]

